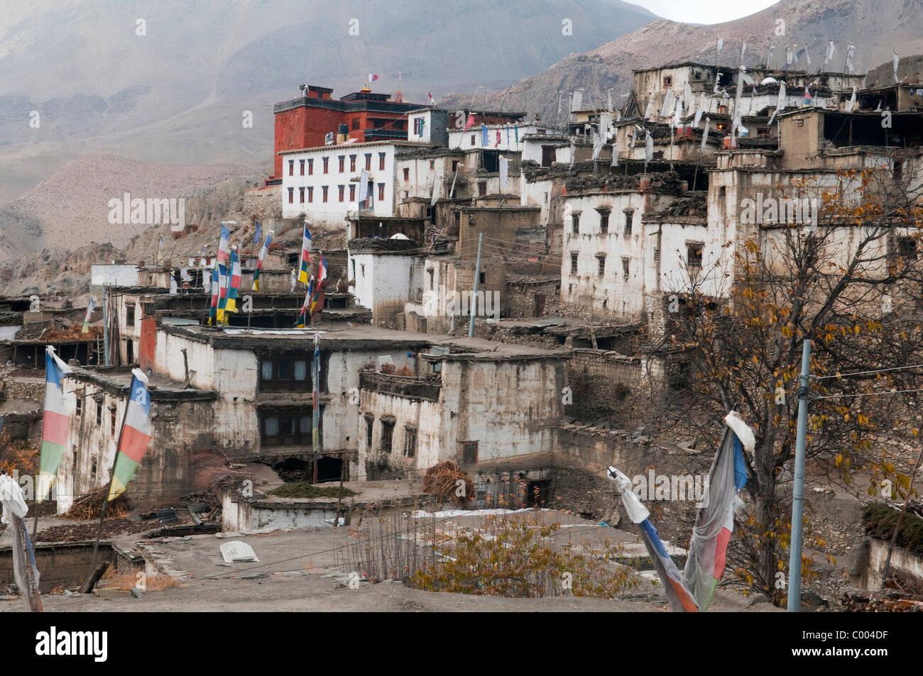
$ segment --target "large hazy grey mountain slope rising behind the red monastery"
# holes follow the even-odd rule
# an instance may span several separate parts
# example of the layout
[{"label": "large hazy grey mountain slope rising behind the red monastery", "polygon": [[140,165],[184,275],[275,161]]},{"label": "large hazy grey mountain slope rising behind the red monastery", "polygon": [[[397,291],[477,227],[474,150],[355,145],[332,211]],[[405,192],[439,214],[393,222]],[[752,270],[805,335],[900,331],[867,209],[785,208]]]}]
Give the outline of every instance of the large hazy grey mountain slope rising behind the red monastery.
[{"label": "large hazy grey mountain slope rising behind the red monastery", "polygon": [[[376,90],[400,86],[412,101],[425,101],[427,91],[499,89],[655,18],[617,0],[7,5],[0,12],[0,183],[13,171],[5,161],[12,157],[41,175],[36,155],[268,161],[271,106],[303,83],[342,96],[376,73]],[[562,35],[563,18],[572,36]],[[30,126],[33,111],[38,127]],[[252,128],[242,124],[246,111]],[[23,180],[16,183],[21,188]],[[0,192],[0,204],[18,195],[11,191]]]}]

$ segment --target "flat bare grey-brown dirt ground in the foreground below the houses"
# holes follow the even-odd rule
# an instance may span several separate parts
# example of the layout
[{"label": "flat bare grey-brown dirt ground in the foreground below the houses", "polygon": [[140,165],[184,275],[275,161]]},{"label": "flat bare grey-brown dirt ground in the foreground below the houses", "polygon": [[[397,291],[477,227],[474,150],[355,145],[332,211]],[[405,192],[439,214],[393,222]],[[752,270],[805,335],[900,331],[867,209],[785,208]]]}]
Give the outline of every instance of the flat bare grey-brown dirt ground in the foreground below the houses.
[{"label": "flat bare grey-brown dirt ground in the foreground below the houses", "polygon": [[[581,537],[596,540],[620,531],[584,522],[576,516],[561,515],[572,528],[586,528]],[[553,517],[553,516],[549,516]],[[471,517],[464,517],[465,521]],[[460,524],[461,525],[461,524]],[[591,528],[592,527],[592,528]],[[562,528],[568,530],[568,528]],[[626,540],[625,534],[618,540]],[[301,528],[260,535],[219,538],[198,535],[163,540],[145,540],[163,563],[185,573],[179,586],[149,591],[136,599],[120,596],[112,599],[96,595],[42,595],[46,611],[622,611],[668,612],[660,587],[642,582],[626,599],[582,599],[557,597],[545,599],[501,599],[426,592],[387,581],[375,585],[359,583],[350,588],[348,572],[335,567],[336,552],[350,537],[349,528]],[[568,536],[570,537],[570,536]],[[219,550],[223,542],[241,540],[253,547],[259,563],[222,564]],[[131,547],[137,536],[116,540]],[[245,579],[243,575],[265,575]],[[20,600],[0,603],[0,611],[22,611]],[[780,611],[767,602],[732,592],[719,591],[711,611]]]}]

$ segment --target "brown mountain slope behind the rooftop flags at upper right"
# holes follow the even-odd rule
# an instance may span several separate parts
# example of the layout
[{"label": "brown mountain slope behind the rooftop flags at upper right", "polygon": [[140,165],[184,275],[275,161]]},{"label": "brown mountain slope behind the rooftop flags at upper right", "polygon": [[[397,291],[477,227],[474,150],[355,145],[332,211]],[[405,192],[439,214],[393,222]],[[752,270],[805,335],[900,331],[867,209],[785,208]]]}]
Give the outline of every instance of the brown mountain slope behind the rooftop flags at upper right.
[{"label": "brown mountain slope behind the rooftop flags at upper right", "polygon": [[[785,36],[775,35],[779,18],[785,21]],[[658,20],[494,92],[488,95],[487,105],[502,103],[506,110],[539,113],[550,123],[557,117],[558,92],[562,92],[561,108],[566,111],[569,92],[582,88],[584,107],[605,105],[606,89],[613,89],[614,103],[620,106],[631,89],[632,68],[682,61],[714,63],[718,36],[724,40],[723,64],[737,65],[743,41],[747,42],[745,65],[765,64],[769,47],[774,45],[773,64],[781,66],[787,44],[797,51],[809,49],[811,65],[802,53],[797,67],[811,71],[821,67],[827,41],[833,40],[836,51],[827,70],[842,72],[846,42],[851,41],[856,45],[855,72],[863,73],[890,61],[894,49],[904,56],[923,52],[921,23],[923,4],[917,0],[782,0],[749,17],[712,26]],[[453,94],[439,104],[454,107],[467,101],[469,95]],[[563,122],[563,113],[557,119]]]}]

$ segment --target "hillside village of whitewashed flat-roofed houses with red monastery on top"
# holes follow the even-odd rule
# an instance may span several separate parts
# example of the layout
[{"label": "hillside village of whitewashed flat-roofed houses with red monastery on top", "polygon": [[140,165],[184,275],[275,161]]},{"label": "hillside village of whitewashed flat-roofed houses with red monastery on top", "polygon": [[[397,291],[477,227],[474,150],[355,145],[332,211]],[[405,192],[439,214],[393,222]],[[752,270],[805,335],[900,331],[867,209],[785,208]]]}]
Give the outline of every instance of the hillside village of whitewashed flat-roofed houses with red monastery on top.
[{"label": "hillside village of whitewashed flat-roofed houses with red monastery on top", "polygon": [[[150,259],[93,265],[78,299],[0,298],[0,442],[45,610],[243,597],[241,610],[781,611],[793,577],[798,610],[923,610],[920,502],[898,478],[919,464],[909,428],[876,430],[891,474],[853,458],[856,492],[832,478],[845,450],[801,458],[803,575],[787,548],[769,569],[736,550],[757,536],[732,510],[724,576],[705,592],[669,581],[695,581],[701,512],[759,511],[762,496],[745,497],[759,439],[781,416],[794,440],[809,401],[794,366],[733,379],[788,348],[764,328],[722,333],[721,308],[752,312],[751,327],[773,317],[799,365],[812,336],[789,335],[792,299],[807,299],[793,317],[830,316],[801,274],[813,255],[832,289],[858,259],[856,279],[883,279],[870,298],[850,278],[848,338],[913,323],[923,81],[896,72],[660,65],[635,70],[624,98],[586,107],[572,92],[554,119],[405,101],[374,82],[293,88],[272,110],[271,175],[221,232],[174,219]],[[835,336],[814,338],[810,397],[867,395],[875,382],[834,376],[913,363],[912,346],[879,360],[849,343],[857,358],[825,371],[847,338],[838,321],[814,326]],[[704,338],[733,354],[702,357]],[[825,403],[810,399],[809,445],[826,438]],[[882,415],[916,419],[907,407]],[[765,469],[785,484],[763,506],[781,510],[787,541],[785,453]],[[739,498],[715,488],[725,460]],[[898,512],[911,536],[895,547],[882,523]],[[522,524],[554,562],[528,585],[496,565],[466,583],[452,567]],[[12,531],[3,610],[23,593]],[[874,597],[889,569],[899,589]]]}]

